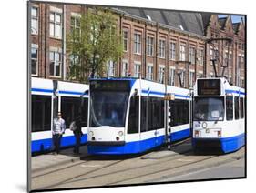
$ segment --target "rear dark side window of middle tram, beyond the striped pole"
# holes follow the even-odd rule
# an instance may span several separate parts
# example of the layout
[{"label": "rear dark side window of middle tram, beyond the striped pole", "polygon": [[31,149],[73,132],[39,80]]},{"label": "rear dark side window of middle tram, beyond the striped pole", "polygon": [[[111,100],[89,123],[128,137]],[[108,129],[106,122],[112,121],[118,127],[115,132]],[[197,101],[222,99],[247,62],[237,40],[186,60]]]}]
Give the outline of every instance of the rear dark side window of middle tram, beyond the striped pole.
[{"label": "rear dark side window of middle tram, beyond the striped pole", "polygon": [[171,126],[189,123],[189,101],[175,100],[170,102]]}]

